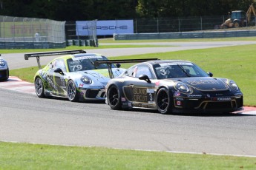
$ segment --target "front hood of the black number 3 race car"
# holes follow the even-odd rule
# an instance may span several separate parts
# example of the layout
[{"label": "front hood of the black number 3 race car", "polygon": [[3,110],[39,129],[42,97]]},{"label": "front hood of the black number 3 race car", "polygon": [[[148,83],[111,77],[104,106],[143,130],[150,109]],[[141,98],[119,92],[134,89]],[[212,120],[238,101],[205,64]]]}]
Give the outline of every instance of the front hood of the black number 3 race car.
[{"label": "front hood of the black number 3 race car", "polygon": [[227,84],[220,78],[184,78],[180,81],[183,81],[183,83],[193,86],[195,89],[200,91],[223,91],[229,89],[229,86],[227,86]]}]

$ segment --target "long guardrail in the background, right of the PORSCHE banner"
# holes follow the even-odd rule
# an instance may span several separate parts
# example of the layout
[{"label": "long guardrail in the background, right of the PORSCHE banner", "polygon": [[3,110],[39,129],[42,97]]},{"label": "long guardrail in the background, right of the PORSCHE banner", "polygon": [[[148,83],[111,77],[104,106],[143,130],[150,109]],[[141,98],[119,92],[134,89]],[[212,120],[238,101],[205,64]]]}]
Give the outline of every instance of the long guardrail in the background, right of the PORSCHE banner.
[{"label": "long guardrail in the background, right of the PORSCHE banner", "polygon": [[179,39],[179,38],[227,38],[256,36],[256,30],[197,31],[179,33],[114,34],[114,40]]}]

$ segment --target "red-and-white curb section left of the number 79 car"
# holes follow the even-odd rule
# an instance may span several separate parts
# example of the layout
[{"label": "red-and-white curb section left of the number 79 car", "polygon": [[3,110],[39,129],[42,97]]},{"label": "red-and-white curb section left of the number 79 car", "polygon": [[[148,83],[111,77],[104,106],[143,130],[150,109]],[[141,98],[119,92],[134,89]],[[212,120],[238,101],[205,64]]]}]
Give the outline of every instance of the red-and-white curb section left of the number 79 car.
[{"label": "red-and-white curb section left of the number 79 car", "polygon": [[18,92],[27,92],[36,95],[34,84],[27,81],[22,81],[14,76],[10,76],[7,81],[1,81],[0,88],[11,89]]}]

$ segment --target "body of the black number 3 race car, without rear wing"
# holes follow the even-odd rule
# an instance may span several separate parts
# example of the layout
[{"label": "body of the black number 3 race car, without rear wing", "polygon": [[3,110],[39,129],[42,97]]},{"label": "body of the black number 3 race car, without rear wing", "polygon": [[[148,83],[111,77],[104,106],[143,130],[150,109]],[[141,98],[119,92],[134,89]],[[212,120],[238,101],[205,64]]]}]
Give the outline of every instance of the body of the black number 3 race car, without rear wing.
[{"label": "body of the black number 3 race car, without rear wing", "polygon": [[148,108],[162,114],[243,109],[243,94],[234,81],[213,78],[190,61],[142,62],[108,81],[106,88],[111,109]]}]

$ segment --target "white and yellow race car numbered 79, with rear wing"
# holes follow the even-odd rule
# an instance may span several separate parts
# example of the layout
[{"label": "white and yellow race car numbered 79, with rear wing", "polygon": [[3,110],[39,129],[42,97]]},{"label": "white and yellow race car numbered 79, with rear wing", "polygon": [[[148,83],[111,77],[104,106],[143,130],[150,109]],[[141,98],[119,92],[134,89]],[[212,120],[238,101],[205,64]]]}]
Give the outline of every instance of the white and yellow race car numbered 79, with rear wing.
[{"label": "white and yellow race car numbered 79, with rear wing", "polygon": [[[108,58],[83,50],[33,53],[24,57],[36,57],[39,63],[39,57],[47,55],[63,56],[53,59],[45,68],[36,72],[34,84],[39,98],[56,96],[68,98],[69,101],[105,100],[105,86],[110,80],[108,66],[95,66],[94,61],[108,61]],[[111,67],[114,77],[125,71],[119,68],[118,64]]]}]

